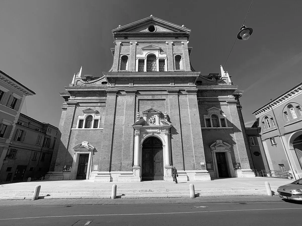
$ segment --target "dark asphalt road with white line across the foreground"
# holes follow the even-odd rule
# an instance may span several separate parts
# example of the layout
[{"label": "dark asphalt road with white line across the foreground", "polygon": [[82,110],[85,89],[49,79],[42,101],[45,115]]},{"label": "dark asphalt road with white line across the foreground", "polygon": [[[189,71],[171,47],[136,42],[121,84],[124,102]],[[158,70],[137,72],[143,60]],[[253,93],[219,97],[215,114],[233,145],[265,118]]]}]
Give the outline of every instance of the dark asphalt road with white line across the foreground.
[{"label": "dark asphalt road with white line across the foreground", "polygon": [[300,226],[301,213],[302,202],[3,206],[0,225]]}]

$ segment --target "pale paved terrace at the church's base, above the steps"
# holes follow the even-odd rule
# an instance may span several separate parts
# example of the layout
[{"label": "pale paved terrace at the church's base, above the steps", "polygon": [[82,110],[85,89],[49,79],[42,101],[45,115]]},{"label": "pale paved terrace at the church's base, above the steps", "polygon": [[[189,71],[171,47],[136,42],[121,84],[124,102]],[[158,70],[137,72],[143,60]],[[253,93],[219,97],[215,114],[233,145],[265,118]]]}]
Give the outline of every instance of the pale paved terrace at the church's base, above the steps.
[{"label": "pale paved terrace at the church's base, above the steps", "polygon": [[39,180],[32,182],[20,182],[0,185],[3,191],[33,191],[36,185],[41,185],[41,190],[111,190],[112,185],[117,185],[117,190],[137,189],[188,189],[194,184],[195,190],[202,188],[236,188],[236,187],[265,187],[268,181],[271,188],[277,188],[284,184],[292,183],[293,180],[252,177],[252,178],[217,178],[210,181],[181,181],[178,184],[165,181],[143,181],[143,182],[94,182],[93,180]]}]

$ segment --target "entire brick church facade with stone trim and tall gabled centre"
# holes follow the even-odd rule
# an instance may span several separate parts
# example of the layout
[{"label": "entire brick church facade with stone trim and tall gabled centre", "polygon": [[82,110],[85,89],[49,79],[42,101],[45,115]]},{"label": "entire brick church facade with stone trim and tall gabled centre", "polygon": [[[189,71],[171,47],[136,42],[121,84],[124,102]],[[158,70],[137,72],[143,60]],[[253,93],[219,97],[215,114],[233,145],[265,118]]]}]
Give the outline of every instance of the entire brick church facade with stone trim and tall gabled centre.
[{"label": "entire brick church facade with stone trim and tall gabled centre", "polygon": [[112,30],[113,64],[74,75],[49,180],[210,180],[255,177],[238,91],[228,73],[190,63],[191,30],[147,17]]}]

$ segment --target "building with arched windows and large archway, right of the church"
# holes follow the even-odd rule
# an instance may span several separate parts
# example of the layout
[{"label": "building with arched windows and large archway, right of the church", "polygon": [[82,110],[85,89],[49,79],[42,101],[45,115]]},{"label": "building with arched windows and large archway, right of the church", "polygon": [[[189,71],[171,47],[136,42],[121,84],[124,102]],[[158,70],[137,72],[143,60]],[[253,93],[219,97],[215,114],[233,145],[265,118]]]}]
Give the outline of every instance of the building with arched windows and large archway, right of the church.
[{"label": "building with arched windows and large archway, right of the church", "polygon": [[270,170],[302,178],[302,83],[262,106],[253,114]]}]

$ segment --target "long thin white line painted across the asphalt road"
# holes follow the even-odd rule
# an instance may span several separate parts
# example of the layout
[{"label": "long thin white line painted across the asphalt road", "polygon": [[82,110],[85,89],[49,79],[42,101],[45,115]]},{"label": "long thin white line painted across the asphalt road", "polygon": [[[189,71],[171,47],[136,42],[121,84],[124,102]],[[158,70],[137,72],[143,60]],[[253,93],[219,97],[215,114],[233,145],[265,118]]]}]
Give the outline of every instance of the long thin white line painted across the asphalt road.
[{"label": "long thin white line painted across the asphalt road", "polygon": [[234,210],[212,210],[212,211],[191,211],[191,212],[171,212],[171,213],[125,213],[125,214],[93,214],[93,215],[66,215],[66,216],[41,216],[41,217],[19,217],[2,218],[0,220],[21,220],[34,218],[57,218],[57,217],[100,217],[100,216],[130,216],[130,215],[160,215],[160,214],[185,214],[185,213],[211,213],[211,212],[232,212],[232,211],[262,211],[262,210],[289,210],[302,208],[277,208],[277,209],[234,209]]}]

